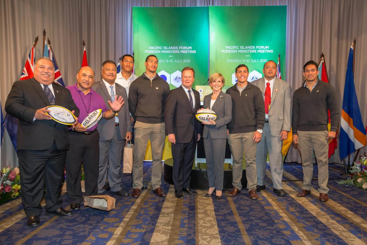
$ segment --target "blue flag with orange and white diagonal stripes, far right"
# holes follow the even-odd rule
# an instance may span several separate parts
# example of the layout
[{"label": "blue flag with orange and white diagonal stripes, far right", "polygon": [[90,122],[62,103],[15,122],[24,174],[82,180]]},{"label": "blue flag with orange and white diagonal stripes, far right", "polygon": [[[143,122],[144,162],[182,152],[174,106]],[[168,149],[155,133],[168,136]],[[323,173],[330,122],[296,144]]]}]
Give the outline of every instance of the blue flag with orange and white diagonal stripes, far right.
[{"label": "blue flag with orange and white diagonal stripes, far right", "polygon": [[364,128],[358,105],[353,75],[353,44],[349,49],[348,65],[345,75],[345,86],[340,121],[340,159],[366,145],[366,129]]}]

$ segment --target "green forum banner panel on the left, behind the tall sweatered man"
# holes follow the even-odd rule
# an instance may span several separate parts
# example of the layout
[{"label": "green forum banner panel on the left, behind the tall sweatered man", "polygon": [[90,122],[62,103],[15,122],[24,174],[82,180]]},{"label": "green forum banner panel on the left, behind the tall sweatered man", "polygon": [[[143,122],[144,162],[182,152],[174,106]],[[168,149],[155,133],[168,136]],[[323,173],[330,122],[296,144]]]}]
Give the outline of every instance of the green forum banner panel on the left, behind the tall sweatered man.
[{"label": "green forum banner panel on the left, behind the tall sweatered man", "polygon": [[174,89],[181,70],[195,69],[195,85],[208,79],[209,16],[207,7],[133,7],[135,74],[145,72],[145,58],[158,58],[157,73]]}]

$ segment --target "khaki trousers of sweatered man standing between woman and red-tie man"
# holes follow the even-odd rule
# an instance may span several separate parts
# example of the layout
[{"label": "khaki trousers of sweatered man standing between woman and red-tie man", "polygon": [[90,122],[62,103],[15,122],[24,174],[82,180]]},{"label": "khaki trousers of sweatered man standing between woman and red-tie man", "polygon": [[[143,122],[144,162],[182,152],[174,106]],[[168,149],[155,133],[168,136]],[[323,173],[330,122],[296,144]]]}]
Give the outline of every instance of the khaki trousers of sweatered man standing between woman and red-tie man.
[{"label": "khaki trousers of sweatered man standing between woman and red-tie man", "polygon": [[243,155],[246,160],[246,179],[248,190],[256,189],[257,170],[256,170],[256,143],[252,140],[255,132],[229,134],[228,144],[233,157],[233,187],[238,190],[242,189],[242,159]]}]

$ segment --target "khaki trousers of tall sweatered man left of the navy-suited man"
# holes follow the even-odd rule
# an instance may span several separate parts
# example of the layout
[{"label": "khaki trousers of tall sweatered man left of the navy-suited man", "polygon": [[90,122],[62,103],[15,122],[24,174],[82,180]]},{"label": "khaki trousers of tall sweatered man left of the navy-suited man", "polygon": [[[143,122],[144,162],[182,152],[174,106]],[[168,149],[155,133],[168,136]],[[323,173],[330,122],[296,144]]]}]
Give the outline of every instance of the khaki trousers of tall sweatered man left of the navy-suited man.
[{"label": "khaki trousers of tall sweatered man left of the navy-suited man", "polygon": [[162,155],[166,132],[164,123],[135,122],[134,126],[134,160],[132,164],[132,187],[143,187],[143,161],[148,145],[152,144],[152,187],[153,190],[160,187],[162,178]]}]

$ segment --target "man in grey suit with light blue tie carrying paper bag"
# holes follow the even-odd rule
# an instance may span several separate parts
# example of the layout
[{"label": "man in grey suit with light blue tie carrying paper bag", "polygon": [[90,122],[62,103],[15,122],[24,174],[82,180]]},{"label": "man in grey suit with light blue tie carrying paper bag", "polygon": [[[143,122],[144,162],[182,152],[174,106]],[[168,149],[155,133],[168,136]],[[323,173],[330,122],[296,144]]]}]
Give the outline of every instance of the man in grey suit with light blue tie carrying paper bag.
[{"label": "man in grey suit with light blue tie carrying paper bag", "polygon": [[95,82],[92,88],[102,96],[108,109],[111,109],[108,101],[121,96],[124,105],[112,119],[102,118],[98,123],[99,131],[99,174],[98,174],[98,194],[105,190],[106,178],[111,188],[111,193],[120,197],[127,197],[128,193],[121,188],[121,157],[125,140],[131,139],[131,121],[126,89],[115,83],[116,63],[106,60],[102,63],[102,81]]}]

